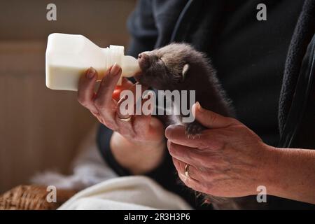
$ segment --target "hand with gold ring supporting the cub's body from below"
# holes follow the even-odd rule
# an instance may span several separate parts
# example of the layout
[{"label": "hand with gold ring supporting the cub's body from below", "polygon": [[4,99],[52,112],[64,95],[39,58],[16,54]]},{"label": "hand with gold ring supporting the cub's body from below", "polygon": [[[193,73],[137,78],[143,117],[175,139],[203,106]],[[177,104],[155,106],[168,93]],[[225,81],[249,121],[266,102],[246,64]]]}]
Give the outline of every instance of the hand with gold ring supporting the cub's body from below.
[{"label": "hand with gold ring supporting the cub's body from below", "polygon": [[[209,129],[194,139],[185,127],[170,125],[165,130],[167,146],[179,178],[186,186],[218,197],[254,195],[265,185],[268,147],[246,125],[193,106],[195,118]],[[185,167],[189,166],[189,176]]]}]

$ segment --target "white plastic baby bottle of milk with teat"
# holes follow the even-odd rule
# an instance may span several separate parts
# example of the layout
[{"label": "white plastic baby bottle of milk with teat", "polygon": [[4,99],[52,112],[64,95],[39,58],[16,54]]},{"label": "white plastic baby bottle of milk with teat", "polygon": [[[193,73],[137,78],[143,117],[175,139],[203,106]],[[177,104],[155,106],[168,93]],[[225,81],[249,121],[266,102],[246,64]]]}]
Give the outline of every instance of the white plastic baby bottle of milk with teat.
[{"label": "white plastic baby bottle of milk with teat", "polygon": [[[82,35],[50,34],[46,49],[46,86],[52,90],[78,90],[78,80],[92,66],[102,79],[104,72],[117,63],[122,76],[140,71],[137,59],[124,55],[124,47],[99,48]],[[118,81],[118,85],[121,80]]]}]

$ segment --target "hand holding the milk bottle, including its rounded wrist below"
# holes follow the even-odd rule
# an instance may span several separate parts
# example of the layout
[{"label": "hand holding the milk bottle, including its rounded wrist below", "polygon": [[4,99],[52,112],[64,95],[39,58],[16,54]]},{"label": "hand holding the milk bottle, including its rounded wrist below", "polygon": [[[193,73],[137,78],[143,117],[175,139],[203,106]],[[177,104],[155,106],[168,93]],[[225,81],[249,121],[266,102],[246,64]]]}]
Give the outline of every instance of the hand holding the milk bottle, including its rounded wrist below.
[{"label": "hand holding the milk bottle, including its rounded wrist below", "polygon": [[[97,92],[94,92],[97,71],[88,69],[85,75],[80,77],[78,102],[89,109],[100,123],[114,131],[111,137],[111,150],[120,165],[135,174],[141,174],[153,169],[162,160],[165,151],[164,126],[151,114],[123,116],[120,104],[125,99],[119,99],[117,96],[123,90],[131,90],[136,96],[136,85],[123,78],[118,90],[116,84],[121,72],[120,66],[113,65],[106,71]],[[144,91],[146,87],[142,86],[141,89]],[[146,100],[148,99],[143,99],[142,103]],[[134,102],[137,102],[137,99]]]}]

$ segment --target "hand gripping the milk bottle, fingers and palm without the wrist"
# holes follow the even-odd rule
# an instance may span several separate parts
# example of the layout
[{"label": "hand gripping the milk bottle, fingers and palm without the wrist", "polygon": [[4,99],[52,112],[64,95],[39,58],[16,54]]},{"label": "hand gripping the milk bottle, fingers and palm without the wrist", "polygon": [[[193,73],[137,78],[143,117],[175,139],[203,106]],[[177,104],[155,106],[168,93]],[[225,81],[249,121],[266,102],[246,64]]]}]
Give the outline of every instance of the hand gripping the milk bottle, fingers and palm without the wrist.
[{"label": "hand gripping the milk bottle, fingers and palm without the wrist", "polygon": [[[121,120],[123,116],[120,113],[119,106],[123,99],[116,101],[113,99],[113,92],[116,88],[116,83],[121,76],[121,68],[117,64],[106,71],[104,78],[99,84],[99,89],[94,92],[94,86],[97,81],[97,71],[90,68],[85,76],[81,76],[78,85],[78,102],[85,106],[99,120],[100,123],[106,125],[111,130],[120,133],[130,141],[161,141],[163,139],[163,125],[157,118],[150,115],[127,115],[132,119],[128,122]],[[135,94],[136,85],[123,78],[122,86],[119,95],[123,90],[131,90]],[[142,87],[142,91],[146,87]],[[143,100],[143,103],[147,99]],[[134,100],[134,102],[136,102]]]}]

